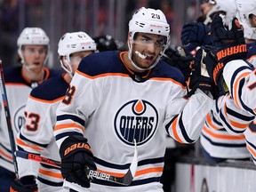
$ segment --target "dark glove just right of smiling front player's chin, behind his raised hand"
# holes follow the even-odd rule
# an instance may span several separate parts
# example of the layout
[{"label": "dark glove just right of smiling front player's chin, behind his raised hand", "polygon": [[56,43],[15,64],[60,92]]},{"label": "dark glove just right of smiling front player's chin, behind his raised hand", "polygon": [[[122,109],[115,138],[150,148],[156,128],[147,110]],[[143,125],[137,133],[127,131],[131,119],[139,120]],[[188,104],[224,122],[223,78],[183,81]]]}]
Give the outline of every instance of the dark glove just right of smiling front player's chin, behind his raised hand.
[{"label": "dark glove just right of smiling front player's chin, behind his raised hand", "polygon": [[186,81],[188,80],[191,73],[192,56],[181,56],[178,51],[170,47],[164,52],[162,60],[175,68],[179,68]]}]

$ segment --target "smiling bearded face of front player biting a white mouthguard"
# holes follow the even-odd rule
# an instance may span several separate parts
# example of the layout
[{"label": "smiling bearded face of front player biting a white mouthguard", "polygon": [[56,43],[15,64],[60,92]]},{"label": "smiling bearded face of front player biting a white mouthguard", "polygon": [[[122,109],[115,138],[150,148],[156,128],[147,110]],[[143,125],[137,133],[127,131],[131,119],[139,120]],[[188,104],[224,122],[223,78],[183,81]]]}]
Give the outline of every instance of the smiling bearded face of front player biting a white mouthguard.
[{"label": "smiling bearded face of front player biting a white mouthguard", "polygon": [[[132,60],[140,68],[149,68],[155,62],[163,46],[164,36],[139,33],[132,42]],[[141,58],[138,52],[145,56],[145,59]]]}]

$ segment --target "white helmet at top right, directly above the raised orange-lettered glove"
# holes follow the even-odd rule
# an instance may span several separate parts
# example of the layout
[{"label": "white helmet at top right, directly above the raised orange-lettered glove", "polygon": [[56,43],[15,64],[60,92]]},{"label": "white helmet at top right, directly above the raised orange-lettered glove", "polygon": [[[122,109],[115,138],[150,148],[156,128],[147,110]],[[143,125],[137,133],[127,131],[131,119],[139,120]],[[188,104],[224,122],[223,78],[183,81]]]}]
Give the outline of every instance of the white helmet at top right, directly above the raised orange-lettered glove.
[{"label": "white helmet at top right, directly above the raised orange-lettered glove", "polygon": [[228,26],[230,20],[236,17],[236,2],[235,0],[214,0],[215,4],[213,4],[212,9],[207,12],[206,18],[204,20],[205,25],[210,25],[212,23],[212,15],[217,12],[225,12],[225,25]]}]

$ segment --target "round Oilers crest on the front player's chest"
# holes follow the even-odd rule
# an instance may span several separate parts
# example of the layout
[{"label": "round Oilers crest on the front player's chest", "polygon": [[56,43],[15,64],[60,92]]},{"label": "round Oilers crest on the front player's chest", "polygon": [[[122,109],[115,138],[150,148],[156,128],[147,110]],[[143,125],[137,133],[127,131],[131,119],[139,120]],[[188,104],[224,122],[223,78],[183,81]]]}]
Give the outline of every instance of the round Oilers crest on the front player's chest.
[{"label": "round Oilers crest on the front player's chest", "polygon": [[147,100],[126,102],[116,113],[115,131],[118,138],[128,145],[142,145],[152,138],[158,124],[156,108]]}]

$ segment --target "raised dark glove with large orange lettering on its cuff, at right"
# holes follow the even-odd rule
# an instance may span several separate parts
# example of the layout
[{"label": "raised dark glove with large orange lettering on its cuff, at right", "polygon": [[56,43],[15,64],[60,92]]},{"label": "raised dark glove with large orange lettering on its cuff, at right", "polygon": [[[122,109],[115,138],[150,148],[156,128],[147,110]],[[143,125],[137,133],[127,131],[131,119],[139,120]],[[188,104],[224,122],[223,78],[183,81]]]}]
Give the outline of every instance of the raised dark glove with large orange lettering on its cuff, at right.
[{"label": "raised dark glove with large orange lettering on its cuff, at right", "polygon": [[223,26],[220,15],[215,15],[212,20],[211,31],[216,47],[216,50],[212,50],[211,57],[217,60],[217,65],[213,68],[207,63],[206,65],[208,73],[212,73],[215,84],[218,84],[223,68],[228,61],[246,60],[247,48],[244,41],[244,31],[236,18],[232,20],[231,28],[228,30]]}]

